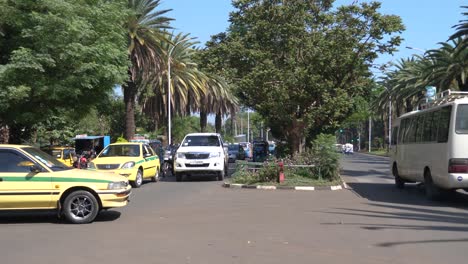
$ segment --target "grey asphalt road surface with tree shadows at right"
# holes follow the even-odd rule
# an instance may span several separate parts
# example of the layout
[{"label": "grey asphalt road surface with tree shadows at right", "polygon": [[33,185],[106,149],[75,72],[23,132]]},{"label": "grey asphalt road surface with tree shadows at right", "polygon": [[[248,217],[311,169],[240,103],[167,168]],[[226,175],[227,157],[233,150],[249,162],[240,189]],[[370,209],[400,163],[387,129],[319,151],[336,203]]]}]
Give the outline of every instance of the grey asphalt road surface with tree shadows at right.
[{"label": "grey asphalt road surface with tree shadows at right", "polygon": [[225,189],[173,178],[88,225],[0,214],[0,263],[464,263],[468,195],[397,190],[386,158],[342,160],[352,190]]}]

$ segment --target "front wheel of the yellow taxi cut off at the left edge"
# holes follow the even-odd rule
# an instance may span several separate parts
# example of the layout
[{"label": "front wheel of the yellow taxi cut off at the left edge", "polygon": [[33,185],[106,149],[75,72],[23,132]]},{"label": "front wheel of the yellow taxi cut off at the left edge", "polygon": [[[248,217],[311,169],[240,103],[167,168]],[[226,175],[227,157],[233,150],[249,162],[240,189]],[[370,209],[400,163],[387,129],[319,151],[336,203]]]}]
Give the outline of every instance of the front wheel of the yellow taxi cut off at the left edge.
[{"label": "front wheel of the yellow taxi cut off at the left edge", "polygon": [[88,191],[74,191],[63,202],[62,212],[67,221],[73,224],[92,222],[99,213],[99,203]]}]

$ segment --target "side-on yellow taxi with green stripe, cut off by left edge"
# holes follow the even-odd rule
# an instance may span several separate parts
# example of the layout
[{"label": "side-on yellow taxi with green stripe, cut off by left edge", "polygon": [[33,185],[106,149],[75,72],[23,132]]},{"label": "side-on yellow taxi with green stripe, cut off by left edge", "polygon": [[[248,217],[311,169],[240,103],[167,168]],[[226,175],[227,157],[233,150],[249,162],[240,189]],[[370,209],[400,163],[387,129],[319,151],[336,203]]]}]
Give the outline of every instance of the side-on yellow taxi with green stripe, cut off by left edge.
[{"label": "side-on yellow taxi with green stripe, cut off by left edge", "polygon": [[92,222],[99,211],[128,204],[120,175],[64,166],[31,146],[0,144],[0,210],[56,209],[69,222]]}]

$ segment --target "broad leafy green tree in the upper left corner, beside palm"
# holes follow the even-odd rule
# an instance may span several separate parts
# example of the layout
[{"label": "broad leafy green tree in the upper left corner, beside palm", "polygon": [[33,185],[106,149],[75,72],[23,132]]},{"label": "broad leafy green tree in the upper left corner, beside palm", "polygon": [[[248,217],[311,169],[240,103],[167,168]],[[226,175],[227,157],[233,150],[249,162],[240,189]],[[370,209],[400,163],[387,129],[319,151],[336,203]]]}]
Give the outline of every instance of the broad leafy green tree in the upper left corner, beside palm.
[{"label": "broad leafy green tree in the upper left corner, beside palm", "polygon": [[0,1],[0,124],[10,143],[125,81],[125,1]]}]

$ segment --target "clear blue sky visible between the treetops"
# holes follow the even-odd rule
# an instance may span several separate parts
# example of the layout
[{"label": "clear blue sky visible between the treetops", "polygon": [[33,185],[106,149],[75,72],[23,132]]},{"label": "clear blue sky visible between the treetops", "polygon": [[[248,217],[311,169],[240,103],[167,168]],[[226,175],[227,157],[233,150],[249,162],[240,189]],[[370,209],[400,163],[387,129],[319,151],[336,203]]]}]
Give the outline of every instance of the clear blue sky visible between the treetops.
[{"label": "clear blue sky visible between the treetops", "polygon": [[[359,0],[363,2],[364,0]],[[335,5],[351,4],[353,0],[337,0]],[[381,13],[402,18],[406,30],[401,35],[402,45],[394,56],[384,56],[376,63],[383,64],[399,58],[407,58],[421,51],[406,46],[428,50],[438,48],[438,42],[446,41],[454,32],[452,26],[462,17],[462,5],[466,0],[381,0]],[[226,31],[229,12],[233,11],[231,0],[162,0],[161,9],[173,9],[167,14],[175,21],[177,31],[197,37],[201,45],[211,35]]]}]

